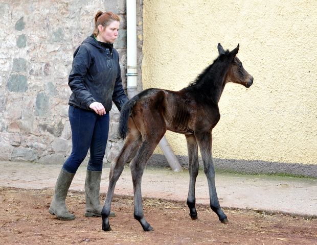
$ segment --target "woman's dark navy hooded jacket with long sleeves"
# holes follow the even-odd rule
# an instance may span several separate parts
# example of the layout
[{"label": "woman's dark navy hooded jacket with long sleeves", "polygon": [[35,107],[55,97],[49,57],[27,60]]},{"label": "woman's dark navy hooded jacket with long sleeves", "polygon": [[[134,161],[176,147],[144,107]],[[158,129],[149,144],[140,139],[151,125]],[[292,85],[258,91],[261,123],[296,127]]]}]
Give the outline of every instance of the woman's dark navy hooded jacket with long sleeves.
[{"label": "woman's dark navy hooded jacket with long sleeves", "polygon": [[73,92],[68,104],[80,109],[94,111],[89,105],[99,102],[110,111],[113,101],[121,111],[128,100],[122,87],[118,52],[94,35],[75,51],[68,84]]}]

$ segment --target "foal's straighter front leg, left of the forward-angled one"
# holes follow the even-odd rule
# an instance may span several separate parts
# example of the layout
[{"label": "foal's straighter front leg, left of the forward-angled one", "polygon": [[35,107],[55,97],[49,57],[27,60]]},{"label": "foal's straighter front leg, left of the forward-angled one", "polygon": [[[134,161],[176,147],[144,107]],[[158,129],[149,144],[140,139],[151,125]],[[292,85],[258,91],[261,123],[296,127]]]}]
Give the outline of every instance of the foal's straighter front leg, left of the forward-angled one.
[{"label": "foal's straighter front leg, left of the forward-angled one", "polygon": [[187,205],[189,207],[189,215],[192,219],[197,219],[197,211],[195,207],[195,185],[199,170],[198,162],[198,144],[195,136],[186,135],[188,150],[188,171],[189,171],[189,189],[187,197]]}]

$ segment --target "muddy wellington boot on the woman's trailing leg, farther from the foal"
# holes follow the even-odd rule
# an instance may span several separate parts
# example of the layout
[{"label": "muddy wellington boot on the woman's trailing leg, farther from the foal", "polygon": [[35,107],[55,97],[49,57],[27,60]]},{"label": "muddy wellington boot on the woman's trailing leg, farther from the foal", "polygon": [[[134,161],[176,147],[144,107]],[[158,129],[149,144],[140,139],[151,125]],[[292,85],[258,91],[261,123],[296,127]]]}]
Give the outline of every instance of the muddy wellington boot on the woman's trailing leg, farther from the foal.
[{"label": "muddy wellington boot on the woman's trailing leg, farther from the foal", "polygon": [[65,204],[66,195],[75,174],[68,173],[63,169],[60,170],[60,174],[57,178],[54,197],[49,208],[50,214],[55,214],[60,220],[73,220],[75,215],[71,214]]}]

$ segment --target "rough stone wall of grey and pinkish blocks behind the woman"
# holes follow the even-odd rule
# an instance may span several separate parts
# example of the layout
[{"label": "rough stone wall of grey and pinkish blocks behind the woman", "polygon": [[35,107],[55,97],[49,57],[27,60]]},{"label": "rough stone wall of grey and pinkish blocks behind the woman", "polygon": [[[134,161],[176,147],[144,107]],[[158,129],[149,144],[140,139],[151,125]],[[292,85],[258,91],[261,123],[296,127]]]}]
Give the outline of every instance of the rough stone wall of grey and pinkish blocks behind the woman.
[{"label": "rough stone wall of grey and pinkish blocks behind the woman", "polygon": [[[137,1],[140,90],[142,5],[142,0]],[[121,17],[115,47],[126,88],[125,6],[123,0],[0,0],[0,160],[62,164],[69,156],[68,75],[73,53],[92,34],[99,10]],[[122,147],[119,116],[114,105],[105,162]]]}]

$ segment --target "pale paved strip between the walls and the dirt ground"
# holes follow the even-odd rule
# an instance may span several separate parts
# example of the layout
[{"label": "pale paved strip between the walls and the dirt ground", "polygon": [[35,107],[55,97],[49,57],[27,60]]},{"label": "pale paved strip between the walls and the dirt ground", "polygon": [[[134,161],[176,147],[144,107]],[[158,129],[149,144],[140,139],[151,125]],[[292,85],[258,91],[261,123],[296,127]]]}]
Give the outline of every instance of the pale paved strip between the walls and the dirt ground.
[{"label": "pale paved strip between the walls and the dirt ground", "polygon": [[[0,162],[0,186],[27,189],[54,188],[61,165],[27,162]],[[109,168],[103,169],[100,192],[108,187]],[[70,191],[83,191],[86,167],[80,166]],[[317,180],[306,178],[256,176],[216,173],[220,205],[228,208],[258,209],[299,216],[317,217]],[[147,198],[186,203],[188,171],[173,172],[149,167],[142,178],[142,195]],[[125,167],[117,182],[115,194],[133,195],[131,173]],[[196,181],[196,204],[209,205],[207,178],[201,170]]]}]

